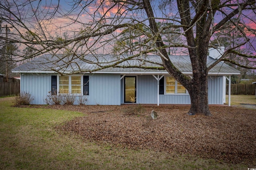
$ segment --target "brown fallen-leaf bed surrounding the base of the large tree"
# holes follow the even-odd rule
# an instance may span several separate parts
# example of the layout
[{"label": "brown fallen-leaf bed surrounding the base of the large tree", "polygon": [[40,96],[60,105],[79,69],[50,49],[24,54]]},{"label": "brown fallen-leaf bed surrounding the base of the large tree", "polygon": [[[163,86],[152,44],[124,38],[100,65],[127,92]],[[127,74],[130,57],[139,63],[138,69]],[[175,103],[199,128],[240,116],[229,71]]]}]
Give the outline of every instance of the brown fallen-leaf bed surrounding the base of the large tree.
[{"label": "brown fallen-leaf bed surrounding the base of the large tree", "polygon": [[[256,109],[211,106],[207,117],[187,115],[189,106],[172,105],[37,107],[85,113],[57,127],[84,140],[256,165]],[[152,109],[158,113],[155,120]]]}]

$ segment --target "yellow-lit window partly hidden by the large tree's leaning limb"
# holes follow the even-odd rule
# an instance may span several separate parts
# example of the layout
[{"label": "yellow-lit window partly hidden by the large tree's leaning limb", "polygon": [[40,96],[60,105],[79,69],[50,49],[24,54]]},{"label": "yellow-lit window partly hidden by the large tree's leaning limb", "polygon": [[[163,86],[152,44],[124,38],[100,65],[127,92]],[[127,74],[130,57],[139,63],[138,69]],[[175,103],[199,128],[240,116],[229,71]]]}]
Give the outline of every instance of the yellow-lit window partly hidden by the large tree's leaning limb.
[{"label": "yellow-lit window partly hidden by the large tree's leaning limb", "polygon": [[165,76],[165,94],[187,94],[186,88],[171,76]]}]

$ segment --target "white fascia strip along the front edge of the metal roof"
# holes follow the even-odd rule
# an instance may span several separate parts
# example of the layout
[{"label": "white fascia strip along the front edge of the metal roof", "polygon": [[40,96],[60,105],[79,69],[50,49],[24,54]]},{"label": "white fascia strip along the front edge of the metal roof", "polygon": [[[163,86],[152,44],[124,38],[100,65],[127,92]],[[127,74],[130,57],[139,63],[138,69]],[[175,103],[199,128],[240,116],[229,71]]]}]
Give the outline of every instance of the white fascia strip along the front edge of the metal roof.
[{"label": "white fascia strip along the front edge of the metal roof", "polygon": [[[29,71],[22,71],[22,70],[13,70],[12,72],[16,73],[58,73],[52,70],[48,71],[42,71],[42,70],[29,70]],[[70,73],[70,72],[63,72],[63,73]],[[89,73],[89,72],[82,72],[82,73]],[[167,71],[96,71],[92,72],[96,74],[166,74],[168,75],[169,73]],[[186,75],[192,75],[192,72],[182,72],[183,74]],[[220,75],[239,75],[240,72],[209,72],[209,76],[220,76]]]}]

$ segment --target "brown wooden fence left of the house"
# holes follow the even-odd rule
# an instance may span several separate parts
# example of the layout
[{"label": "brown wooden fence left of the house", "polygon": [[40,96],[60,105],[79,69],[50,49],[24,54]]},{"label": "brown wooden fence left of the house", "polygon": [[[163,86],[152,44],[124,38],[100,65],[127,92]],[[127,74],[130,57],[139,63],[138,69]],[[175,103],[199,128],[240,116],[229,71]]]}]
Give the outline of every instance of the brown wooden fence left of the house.
[{"label": "brown wooden fence left of the house", "polygon": [[19,93],[20,93],[20,80],[15,79],[9,82],[0,82],[0,97],[15,96]]}]

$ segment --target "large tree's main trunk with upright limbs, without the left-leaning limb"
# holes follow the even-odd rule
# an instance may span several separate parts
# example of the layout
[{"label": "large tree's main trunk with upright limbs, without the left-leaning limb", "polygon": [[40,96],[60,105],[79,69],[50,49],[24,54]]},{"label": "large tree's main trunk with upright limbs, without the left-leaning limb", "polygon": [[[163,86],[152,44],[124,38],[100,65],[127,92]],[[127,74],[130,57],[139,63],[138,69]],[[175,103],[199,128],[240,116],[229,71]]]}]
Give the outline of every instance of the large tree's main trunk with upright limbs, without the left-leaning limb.
[{"label": "large tree's main trunk with upright limbs, without the left-leaning limb", "polygon": [[[196,32],[192,27],[194,19],[191,19],[189,1],[177,0],[178,10],[181,16],[182,25],[186,31],[186,39],[188,46],[188,52],[190,55],[190,61],[192,65],[193,78],[191,84],[184,84],[184,87],[190,94],[191,106],[190,113],[211,115],[208,105],[208,69],[207,69],[207,52],[210,36],[208,31],[212,22],[211,17],[207,17],[207,13],[204,13],[208,8],[208,1],[197,2],[199,8],[196,9],[195,18],[200,18],[196,22]],[[210,14],[209,14],[210,15]],[[200,16],[200,17],[199,17]],[[196,38],[194,38],[194,34]]]}]

